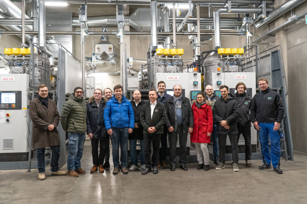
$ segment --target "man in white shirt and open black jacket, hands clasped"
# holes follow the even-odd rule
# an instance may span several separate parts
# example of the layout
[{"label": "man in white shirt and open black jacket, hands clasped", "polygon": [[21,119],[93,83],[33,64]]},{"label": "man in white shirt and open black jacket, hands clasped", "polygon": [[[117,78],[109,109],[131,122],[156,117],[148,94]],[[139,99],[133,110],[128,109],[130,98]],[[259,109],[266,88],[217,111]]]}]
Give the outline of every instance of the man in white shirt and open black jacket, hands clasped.
[{"label": "man in white shirt and open black jacket, hands clasped", "polygon": [[[166,119],[165,107],[163,103],[157,102],[157,91],[151,89],[148,93],[150,102],[143,105],[140,121],[143,126],[145,170],[142,174],[151,172],[158,173],[158,159],[161,134],[163,134],[163,125]],[[151,141],[153,144],[153,155],[150,161]]]}]

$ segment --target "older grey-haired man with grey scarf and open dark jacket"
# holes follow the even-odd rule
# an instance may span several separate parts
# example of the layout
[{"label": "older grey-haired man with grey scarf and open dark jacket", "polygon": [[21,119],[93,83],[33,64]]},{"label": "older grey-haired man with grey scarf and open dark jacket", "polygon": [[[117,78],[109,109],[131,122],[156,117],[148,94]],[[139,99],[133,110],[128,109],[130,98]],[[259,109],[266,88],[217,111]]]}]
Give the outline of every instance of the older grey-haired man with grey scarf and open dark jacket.
[{"label": "older grey-haired man with grey scarf and open dark jacket", "polygon": [[182,170],[187,171],[185,166],[187,161],[187,136],[193,131],[193,112],[190,101],[184,97],[181,85],[177,84],[173,87],[174,95],[165,103],[166,121],[165,124],[169,129],[169,157],[171,163],[171,171],[176,169],[176,146],[179,137],[179,163]]}]

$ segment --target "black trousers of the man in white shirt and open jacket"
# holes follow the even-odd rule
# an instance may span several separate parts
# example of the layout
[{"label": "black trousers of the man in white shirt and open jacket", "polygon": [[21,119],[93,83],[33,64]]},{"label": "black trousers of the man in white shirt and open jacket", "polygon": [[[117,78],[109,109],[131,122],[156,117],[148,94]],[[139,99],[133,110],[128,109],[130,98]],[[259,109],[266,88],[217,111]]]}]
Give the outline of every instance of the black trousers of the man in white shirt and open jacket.
[{"label": "black trousers of the man in white shirt and open jacket", "polygon": [[[151,168],[158,165],[159,159],[159,148],[161,134],[144,134],[144,156],[145,156],[145,166]],[[153,143],[153,155],[150,161],[151,154],[151,141]]]}]

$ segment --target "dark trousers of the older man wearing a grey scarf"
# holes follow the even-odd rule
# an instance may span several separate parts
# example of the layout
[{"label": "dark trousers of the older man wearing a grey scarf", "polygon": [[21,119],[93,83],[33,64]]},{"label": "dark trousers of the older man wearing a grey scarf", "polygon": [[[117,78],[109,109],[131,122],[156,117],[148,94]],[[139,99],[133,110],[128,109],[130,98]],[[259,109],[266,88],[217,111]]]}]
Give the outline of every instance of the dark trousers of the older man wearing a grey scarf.
[{"label": "dark trousers of the older man wearing a grey scarf", "polygon": [[182,125],[177,126],[176,132],[169,133],[169,158],[170,164],[176,165],[176,146],[179,138],[179,163],[180,166],[185,165],[187,161],[187,136],[188,132],[183,133]]}]

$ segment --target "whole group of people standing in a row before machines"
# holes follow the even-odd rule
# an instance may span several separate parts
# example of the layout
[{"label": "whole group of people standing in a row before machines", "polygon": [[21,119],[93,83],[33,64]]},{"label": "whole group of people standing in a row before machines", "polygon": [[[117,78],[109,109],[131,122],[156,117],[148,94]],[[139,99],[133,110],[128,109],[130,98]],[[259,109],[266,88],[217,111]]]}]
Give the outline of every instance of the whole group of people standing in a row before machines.
[{"label": "whole group of people standing in a row before machines", "polygon": [[[129,170],[138,168],[137,140],[140,141],[140,168],[142,174],[158,173],[158,168],[167,168],[167,137],[169,139],[170,170],[177,168],[177,140],[179,140],[179,164],[182,170],[188,170],[187,135],[191,135],[199,165],[197,169],[209,170],[208,143],[213,141],[213,156],[216,169],[225,168],[226,138],[229,137],[232,149],[232,166],[238,168],[238,141],[243,135],[245,140],[246,166],[251,167],[251,122],[259,130],[259,141],[263,155],[263,165],[259,169],[271,168],[282,173],[279,168],[280,137],[278,129],[283,118],[283,106],[277,92],[271,91],[268,81],[258,80],[261,91],[252,99],[246,93],[246,86],[240,82],[236,93],[229,93],[229,88],[220,86],[221,97],[213,93],[208,85],[205,93],[199,92],[196,102],[190,104],[188,98],[182,95],[182,87],[173,86],[174,95],[165,92],[166,84],[157,84],[158,92],[151,89],[148,93],[149,102],[142,100],[139,90],[133,92],[133,100],[128,101],[122,94],[121,85],[103,91],[96,89],[93,97],[86,102],[83,89],[76,87],[68,101],[64,103],[61,114],[56,104],[48,99],[48,88],[38,87],[37,98],[30,101],[29,111],[33,121],[33,149],[37,149],[37,165],[39,179],[45,179],[45,147],[52,150],[52,175],[68,175],[72,177],[85,174],[81,169],[86,134],[91,139],[93,167],[91,173],[104,172],[110,167],[109,140],[111,137],[113,174],[119,169],[128,173],[128,140],[130,143],[131,165]],[[61,121],[62,128],[68,134],[67,173],[58,168],[59,137],[56,127]],[[269,150],[268,134],[271,139]],[[161,143],[161,150],[160,150]],[[153,151],[151,151],[151,145]],[[99,148],[99,151],[98,151]],[[119,158],[120,148],[120,158]],[[160,152],[159,152],[160,151]],[[151,156],[152,153],[152,156]]]}]

